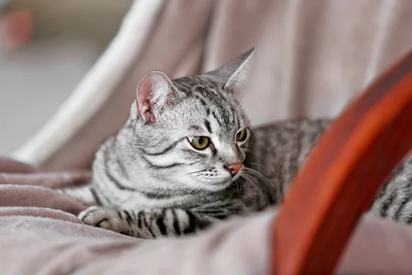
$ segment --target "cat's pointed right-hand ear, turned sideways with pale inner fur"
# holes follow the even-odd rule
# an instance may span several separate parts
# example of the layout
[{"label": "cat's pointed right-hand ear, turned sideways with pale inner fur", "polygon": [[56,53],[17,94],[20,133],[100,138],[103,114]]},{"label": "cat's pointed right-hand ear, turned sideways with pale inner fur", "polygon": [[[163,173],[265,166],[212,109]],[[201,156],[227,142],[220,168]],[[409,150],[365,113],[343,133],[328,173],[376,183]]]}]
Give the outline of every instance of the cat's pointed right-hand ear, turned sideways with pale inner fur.
[{"label": "cat's pointed right-hand ear, turned sideways with pale inner fur", "polygon": [[249,76],[254,50],[252,48],[238,56],[235,60],[207,74],[219,80],[222,83],[223,89],[241,86]]}]

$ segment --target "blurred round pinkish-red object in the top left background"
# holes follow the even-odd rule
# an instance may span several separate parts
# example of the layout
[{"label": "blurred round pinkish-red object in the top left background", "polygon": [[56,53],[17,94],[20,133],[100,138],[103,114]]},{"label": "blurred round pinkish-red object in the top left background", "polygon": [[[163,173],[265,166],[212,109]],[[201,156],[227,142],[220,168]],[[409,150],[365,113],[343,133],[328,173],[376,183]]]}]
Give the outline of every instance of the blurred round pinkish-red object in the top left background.
[{"label": "blurred round pinkish-red object in the top left background", "polygon": [[16,50],[25,45],[33,32],[33,17],[29,10],[5,14],[0,21],[0,43],[4,50]]}]

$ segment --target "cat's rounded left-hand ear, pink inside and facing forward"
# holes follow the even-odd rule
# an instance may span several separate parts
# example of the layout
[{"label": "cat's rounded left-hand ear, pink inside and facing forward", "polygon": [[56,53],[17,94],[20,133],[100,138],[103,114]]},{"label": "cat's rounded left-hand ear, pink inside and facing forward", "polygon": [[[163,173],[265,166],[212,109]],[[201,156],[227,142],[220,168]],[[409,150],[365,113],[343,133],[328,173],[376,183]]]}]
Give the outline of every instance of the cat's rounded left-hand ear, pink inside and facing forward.
[{"label": "cat's rounded left-hand ear, pink inside and facing forward", "polygon": [[163,72],[152,71],[141,78],[136,91],[137,113],[148,123],[153,123],[157,115],[170,104],[176,87]]}]

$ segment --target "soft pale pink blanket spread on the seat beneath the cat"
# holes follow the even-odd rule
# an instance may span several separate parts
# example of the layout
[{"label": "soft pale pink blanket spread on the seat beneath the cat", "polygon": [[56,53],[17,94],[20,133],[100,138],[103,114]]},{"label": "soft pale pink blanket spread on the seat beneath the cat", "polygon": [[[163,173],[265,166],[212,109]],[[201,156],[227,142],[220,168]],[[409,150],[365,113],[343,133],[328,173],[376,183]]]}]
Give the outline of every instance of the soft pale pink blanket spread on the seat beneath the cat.
[{"label": "soft pale pink blanket spread on the seat beneath the cat", "polygon": [[[88,179],[0,157],[0,274],[268,274],[275,211],[144,241],[82,224],[83,206],[52,190]],[[411,274],[411,254],[412,228],[367,216],[337,273]]]}]

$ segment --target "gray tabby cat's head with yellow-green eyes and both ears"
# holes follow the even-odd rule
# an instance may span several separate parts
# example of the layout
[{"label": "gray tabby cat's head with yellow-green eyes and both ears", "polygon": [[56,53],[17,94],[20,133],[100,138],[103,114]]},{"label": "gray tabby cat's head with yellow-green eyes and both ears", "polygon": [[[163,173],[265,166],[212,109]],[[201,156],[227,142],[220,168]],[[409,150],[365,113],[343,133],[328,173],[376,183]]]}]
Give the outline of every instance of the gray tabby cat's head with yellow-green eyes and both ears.
[{"label": "gray tabby cat's head with yellow-green eyes and both ears", "polygon": [[252,54],[199,76],[170,80],[152,71],[141,79],[132,113],[135,142],[153,175],[209,191],[238,179],[250,131],[235,90],[247,77]]}]

